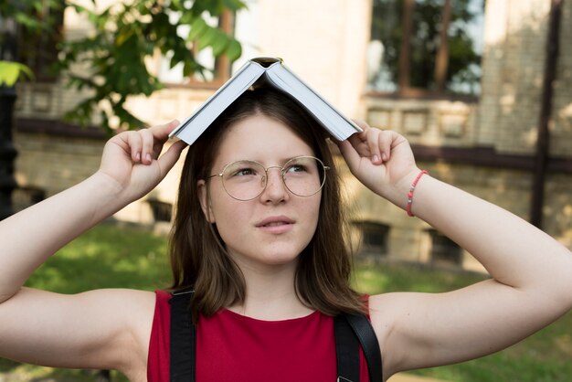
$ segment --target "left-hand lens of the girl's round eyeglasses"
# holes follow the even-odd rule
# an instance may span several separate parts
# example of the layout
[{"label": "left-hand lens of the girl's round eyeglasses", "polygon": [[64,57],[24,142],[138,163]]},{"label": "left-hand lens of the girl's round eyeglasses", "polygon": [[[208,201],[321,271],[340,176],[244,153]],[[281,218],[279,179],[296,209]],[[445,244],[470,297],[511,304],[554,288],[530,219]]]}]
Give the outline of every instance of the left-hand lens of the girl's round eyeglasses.
[{"label": "left-hand lens of the girl's round eyeglasses", "polygon": [[252,161],[228,164],[222,174],[222,185],[228,195],[238,200],[250,200],[264,190],[264,167]]}]

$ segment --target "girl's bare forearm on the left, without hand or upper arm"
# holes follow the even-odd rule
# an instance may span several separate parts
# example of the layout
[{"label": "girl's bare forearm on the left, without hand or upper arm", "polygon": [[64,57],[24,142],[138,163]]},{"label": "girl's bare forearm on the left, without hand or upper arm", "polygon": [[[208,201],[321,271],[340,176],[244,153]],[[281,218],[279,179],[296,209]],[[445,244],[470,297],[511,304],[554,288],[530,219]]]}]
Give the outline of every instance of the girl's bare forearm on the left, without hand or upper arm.
[{"label": "girl's bare forearm on the left, without hand or upper arm", "polygon": [[0,302],[58,249],[122,207],[119,187],[101,173],[0,222]]}]

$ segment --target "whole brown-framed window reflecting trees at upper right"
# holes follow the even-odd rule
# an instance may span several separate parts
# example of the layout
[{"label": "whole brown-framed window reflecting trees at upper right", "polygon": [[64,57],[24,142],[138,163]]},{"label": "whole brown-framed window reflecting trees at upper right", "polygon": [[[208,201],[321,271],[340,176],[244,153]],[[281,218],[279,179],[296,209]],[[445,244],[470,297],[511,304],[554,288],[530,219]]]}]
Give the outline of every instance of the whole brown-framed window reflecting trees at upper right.
[{"label": "whole brown-framed window reflecting trees at upper right", "polygon": [[373,0],[368,88],[478,95],[484,0]]}]

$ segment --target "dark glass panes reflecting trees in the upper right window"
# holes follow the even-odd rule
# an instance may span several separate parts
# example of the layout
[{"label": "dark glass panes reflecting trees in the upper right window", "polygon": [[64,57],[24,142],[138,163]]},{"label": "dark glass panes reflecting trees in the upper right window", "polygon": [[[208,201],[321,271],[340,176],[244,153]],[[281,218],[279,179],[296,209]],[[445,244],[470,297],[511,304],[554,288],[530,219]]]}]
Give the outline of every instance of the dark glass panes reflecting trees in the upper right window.
[{"label": "dark glass panes reflecting trees in the upper right window", "polygon": [[[471,25],[482,15],[482,0],[451,1],[450,23],[447,30],[449,62],[446,76],[446,89],[457,92],[474,92],[480,81],[476,68],[481,55],[474,46],[470,35]],[[426,90],[435,89],[435,65],[440,47],[443,0],[417,0],[411,15],[409,36],[409,85]],[[397,84],[399,78],[399,58],[404,36],[403,16],[405,2],[402,0],[374,0],[372,39],[383,44],[385,70],[372,82],[385,80]],[[407,37],[406,37],[407,38]]]}]

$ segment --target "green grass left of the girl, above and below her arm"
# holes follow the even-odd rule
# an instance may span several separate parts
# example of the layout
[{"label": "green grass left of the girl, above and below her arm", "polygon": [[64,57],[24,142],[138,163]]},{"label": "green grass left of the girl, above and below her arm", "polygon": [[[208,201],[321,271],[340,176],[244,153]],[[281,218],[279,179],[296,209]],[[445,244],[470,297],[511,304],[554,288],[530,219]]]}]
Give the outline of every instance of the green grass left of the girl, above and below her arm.
[{"label": "green grass left of the girl, above and below her arm", "polygon": [[[143,228],[101,224],[75,239],[42,265],[26,286],[76,293],[98,288],[154,291],[169,286],[166,240]],[[125,381],[119,373],[112,380]],[[0,358],[0,381],[95,382],[96,371],[18,364]]]}]

